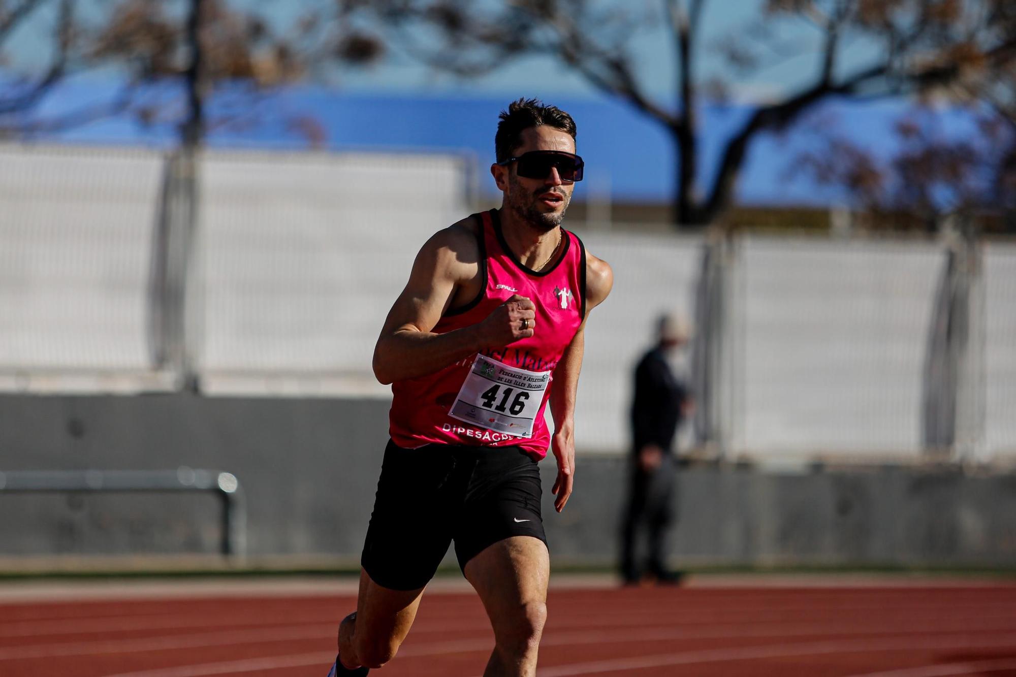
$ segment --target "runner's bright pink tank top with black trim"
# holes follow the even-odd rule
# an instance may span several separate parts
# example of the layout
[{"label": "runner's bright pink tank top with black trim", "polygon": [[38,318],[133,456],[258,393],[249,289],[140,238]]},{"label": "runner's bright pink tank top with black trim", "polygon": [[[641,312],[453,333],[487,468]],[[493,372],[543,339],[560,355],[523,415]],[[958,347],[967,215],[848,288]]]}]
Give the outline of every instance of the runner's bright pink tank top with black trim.
[{"label": "runner's bright pink tank top with black trim", "polygon": [[563,251],[556,263],[537,272],[511,253],[497,209],[473,218],[481,220],[484,291],[465,306],[447,311],[432,331],[477,324],[519,294],[536,307],[534,335],[433,374],[392,383],[389,433],[403,448],[435,442],[517,445],[543,458],[551,442],[544,412],[552,372],[585,316],[585,247],[561,229]]}]

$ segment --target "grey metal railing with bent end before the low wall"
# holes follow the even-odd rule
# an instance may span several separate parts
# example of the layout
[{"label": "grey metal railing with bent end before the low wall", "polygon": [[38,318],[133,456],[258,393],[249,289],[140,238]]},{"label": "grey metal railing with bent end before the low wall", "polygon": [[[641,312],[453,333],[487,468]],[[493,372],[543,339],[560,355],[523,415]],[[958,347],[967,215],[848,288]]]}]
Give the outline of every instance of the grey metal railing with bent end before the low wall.
[{"label": "grey metal railing with bent end before the low wall", "polygon": [[247,504],[232,473],[192,469],[166,471],[13,471],[0,472],[0,496],[13,492],[179,492],[208,491],[223,503],[221,553],[247,554]]}]

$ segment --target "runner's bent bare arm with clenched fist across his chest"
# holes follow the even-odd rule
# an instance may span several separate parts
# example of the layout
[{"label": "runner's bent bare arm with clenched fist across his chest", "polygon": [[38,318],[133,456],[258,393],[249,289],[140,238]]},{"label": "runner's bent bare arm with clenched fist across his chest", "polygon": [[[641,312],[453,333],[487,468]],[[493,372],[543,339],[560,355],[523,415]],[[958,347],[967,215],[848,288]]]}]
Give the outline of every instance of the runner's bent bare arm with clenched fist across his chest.
[{"label": "runner's bent bare arm with clenched fist across his chest", "polygon": [[445,333],[432,331],[456,291],[479,274],[475,235],[465,223],[439,231],[417,254],[409,281],[388,312],[374,347],[374,375],[380,382],[432,374],[485,348],[532,335],[533,329],[523,330],[521,324],[527,319],[531,325],[534,306],[517,295],[478,324]]}]

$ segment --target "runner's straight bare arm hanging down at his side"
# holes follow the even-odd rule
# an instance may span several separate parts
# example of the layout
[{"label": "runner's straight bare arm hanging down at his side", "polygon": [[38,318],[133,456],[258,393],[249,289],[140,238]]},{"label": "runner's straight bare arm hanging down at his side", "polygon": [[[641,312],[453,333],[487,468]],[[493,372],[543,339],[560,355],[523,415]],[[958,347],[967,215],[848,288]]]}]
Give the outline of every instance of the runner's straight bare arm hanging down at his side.
[{"label": "runner's straight bare arm hanging down at his side", "polygon": [[551,492],[556,496],[554,507],[558,512],[565,508],[575,481],[575,394],[585,353],[585,322],[589,311],[602,303],[614,287],[610,264],[588,252],[585,270],[585,317],[554,369],[554,388],[551,390],[551,415],[554,417],[551,448],[558,460],[558,477]]}]

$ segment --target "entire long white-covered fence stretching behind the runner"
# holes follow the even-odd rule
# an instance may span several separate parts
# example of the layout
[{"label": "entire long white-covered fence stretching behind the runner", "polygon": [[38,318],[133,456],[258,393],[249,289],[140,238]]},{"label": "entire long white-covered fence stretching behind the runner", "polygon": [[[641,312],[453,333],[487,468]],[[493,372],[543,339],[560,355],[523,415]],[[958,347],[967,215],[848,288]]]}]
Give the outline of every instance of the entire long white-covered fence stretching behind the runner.
[{"label": "entire long white-covered fence stretching behind the runner", "polygon": [[[469,212],[468,161],[170,160],[0,146],[0,388],[387,396],[374,342],[420,246]],[[178,247],[188,172],[196,229]],[[586,331],[581,451],[627,447],[632,369],[676,312],[694,320],[686,448],[1016,459],[1013,243],[579,235],[615,270]]]}]

